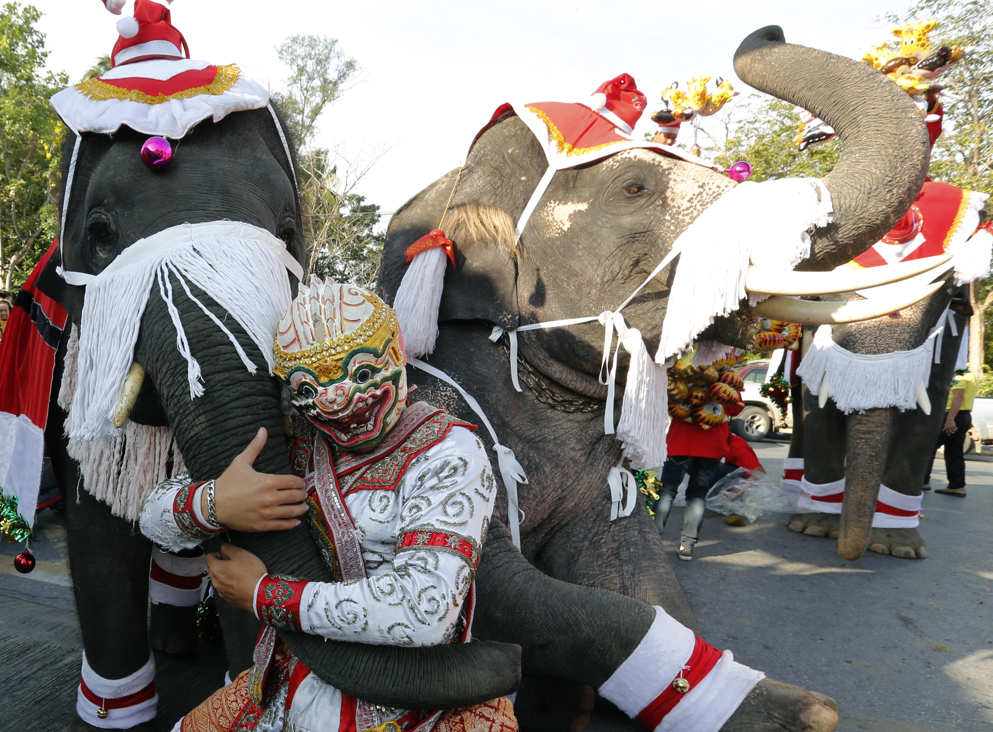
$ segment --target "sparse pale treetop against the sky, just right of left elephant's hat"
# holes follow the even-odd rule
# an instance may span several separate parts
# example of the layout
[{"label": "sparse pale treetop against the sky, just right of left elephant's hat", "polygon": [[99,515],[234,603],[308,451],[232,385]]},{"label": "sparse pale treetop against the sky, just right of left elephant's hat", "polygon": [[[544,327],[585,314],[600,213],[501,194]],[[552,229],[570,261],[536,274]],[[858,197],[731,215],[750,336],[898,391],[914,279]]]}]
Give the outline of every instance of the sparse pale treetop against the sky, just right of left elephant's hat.
[{"label": "sparse pale treetop against the sky, just right of left elephant's hat", "polygon": [[291,36],[276,55],[290,68],[279,104],[304,148],[321,113],[348,90],[358,62],[346,59],[338,39],[327,36]]}]

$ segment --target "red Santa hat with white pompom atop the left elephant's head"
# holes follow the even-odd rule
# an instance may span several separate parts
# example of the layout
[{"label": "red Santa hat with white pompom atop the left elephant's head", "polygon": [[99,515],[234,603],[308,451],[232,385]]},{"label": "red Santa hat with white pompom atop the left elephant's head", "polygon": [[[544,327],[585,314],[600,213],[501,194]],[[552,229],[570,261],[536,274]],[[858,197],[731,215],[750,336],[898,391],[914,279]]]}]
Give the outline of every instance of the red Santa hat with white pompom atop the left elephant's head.
[{"label": "red Santa hat with white pompom atop the left elephant's head", "polygon": [[[103,0],[103,5],[120,15],[124,0]],[[169,8],[157,0],[135,0],[134,15],[117,21],[117,33],[120,37],[110,54],[112,67],[150,59],[190,58],[186,39],[173,26]]]}]

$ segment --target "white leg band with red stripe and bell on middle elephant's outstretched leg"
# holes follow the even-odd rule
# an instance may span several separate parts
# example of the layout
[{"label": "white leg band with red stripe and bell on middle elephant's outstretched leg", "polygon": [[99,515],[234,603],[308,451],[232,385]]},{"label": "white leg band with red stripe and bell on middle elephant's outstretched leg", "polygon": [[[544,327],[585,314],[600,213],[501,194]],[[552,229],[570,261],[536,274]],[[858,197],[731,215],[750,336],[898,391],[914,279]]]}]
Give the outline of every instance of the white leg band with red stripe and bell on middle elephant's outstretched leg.
[{"label": "white leg band with red stripe and bell on middle elephant's outstretched leg", "polygon": [[717,732],[765,675],[656,607],[638,648],[598,691],[654,732]]}]

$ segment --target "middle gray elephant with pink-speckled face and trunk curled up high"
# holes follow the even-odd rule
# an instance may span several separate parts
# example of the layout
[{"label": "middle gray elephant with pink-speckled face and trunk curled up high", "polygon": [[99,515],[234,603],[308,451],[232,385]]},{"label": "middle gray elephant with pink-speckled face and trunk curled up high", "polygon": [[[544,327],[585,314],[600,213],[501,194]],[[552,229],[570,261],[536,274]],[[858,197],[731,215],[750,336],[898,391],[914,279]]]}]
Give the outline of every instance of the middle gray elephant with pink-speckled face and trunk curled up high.
[{"label": "middle gray elephant with pink-speckled face and trunk curled up high", "polygon": [[[825,179],[835,220],[812,234],[812,254],[799,267],[831,268],[878,240],[898,218],[893,212],[910,205],[922,183],[927,140],[920,114],[915,117],[900,94],[890,95],[878,74],[861,73],[858,65],[781,46],[780,41],[778,29],[754,34],[739,49],[735,68],[758,88],[813,105],[832,124],[838,120],[846,128],[841,133],[844,156]],[[854,97],[819,96],[820,89],[834,84],[857,85],[858,94],[883,94],[887,105],[906,108],[908,114],[894,120],[897,136],[887,141],[880,120],[849,114]],[[899,155],[888,151],[898,138],[904,150]],[[899,171],[893,168],[911,159]],[[734,184],[699,166],[640,150],[559,171],[515,250],[514,222],[546,165],[543,150],[519,117],[511,112],[497,116],[477,137],[461,172],[452,171],[429,186],[391,220],[379,287],[392,301],[407,267],[404,252],[437,225],[451,200],[446,230],[455,242],[457,267],[445,275],[437,347],[429,362],[480,402],[500,442],[514,450],[525,468],[529,483],[520,488],[523,555],[556,579],[661,603],[682,617],[683,600],[659,560],[661,542],[647,512],[639,506],[628,518],[608,517],[605,477],[618,464],[621,446],[605,437],[603,429],[607,387],[597,378],[602,328],[593,323],[519,333],[522,392],[511,385],[506,342],[493,344],[490,336],[494,325],[509,331],[613,309],[700,209]],[[894,177],[884,181],[883,170]],[[625,311],[648,337],[649,349],[657,344],[651,334],[662,328],[674,269],[663,270]],[[744,324],[751,317],[746,312],[718,319],[700,338],[745,346]],[[416,369],[410,377],[424,398],[463,418],[475,418],[450,384]],[[505,517],[506,512],[505,502],[497,506],[498,514]],[[480,637],[520,642],[520,636],[490,622],[484,610]],[[532,647],[522,645],[526,674],[583,681],[574,669],[532,664]],[[525,688],[541,695],[533,679]],[[530,712],[521,707],[518,701],[526,727]]]}]

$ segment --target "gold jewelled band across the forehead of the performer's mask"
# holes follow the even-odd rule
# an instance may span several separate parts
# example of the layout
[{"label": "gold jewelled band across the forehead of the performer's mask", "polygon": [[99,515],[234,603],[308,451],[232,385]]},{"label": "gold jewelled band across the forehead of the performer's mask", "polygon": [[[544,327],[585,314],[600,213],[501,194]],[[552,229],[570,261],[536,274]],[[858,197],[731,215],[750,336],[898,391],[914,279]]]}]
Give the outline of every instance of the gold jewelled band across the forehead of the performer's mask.
[{"label": "gold jewelled band across the forehead of the performer's mask", "polygon": [[324,343],[311,346],[306,351],[283,351],[277,340],[276,366],[272,372],[285,379],[294,368],[303,366],[314,371],[322,383],[327,383],[342,377],[345,372],[345,359],[356,348],[368,346],[379,352],[389,339],[394,339],[393,347],[396,348],[393,358],[398,364],[401,363],[403,359],[395,341],[396,316],[375,295],[369,293],[366,300],[372,304],[372,315],[352,333],[328,339]]}]

